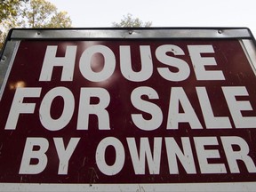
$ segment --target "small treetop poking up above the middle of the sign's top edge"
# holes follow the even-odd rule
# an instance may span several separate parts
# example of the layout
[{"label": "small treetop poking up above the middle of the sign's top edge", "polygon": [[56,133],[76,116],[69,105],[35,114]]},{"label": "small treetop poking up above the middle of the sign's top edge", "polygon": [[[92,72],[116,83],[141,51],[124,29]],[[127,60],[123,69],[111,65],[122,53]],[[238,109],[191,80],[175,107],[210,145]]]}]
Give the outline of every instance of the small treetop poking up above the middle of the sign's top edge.
[{"label": "small treetop poking up above the middle of the sign's top edge", "polygon": [[152,22],[148,21],[143,23],[142,20],[139,18],[132,18],[132,14],[128,13],[124,16],[124,19],[121,20],[119,23],[113,22],[112,26],[115,28],[141,28],[141,27],[151,27]]}]

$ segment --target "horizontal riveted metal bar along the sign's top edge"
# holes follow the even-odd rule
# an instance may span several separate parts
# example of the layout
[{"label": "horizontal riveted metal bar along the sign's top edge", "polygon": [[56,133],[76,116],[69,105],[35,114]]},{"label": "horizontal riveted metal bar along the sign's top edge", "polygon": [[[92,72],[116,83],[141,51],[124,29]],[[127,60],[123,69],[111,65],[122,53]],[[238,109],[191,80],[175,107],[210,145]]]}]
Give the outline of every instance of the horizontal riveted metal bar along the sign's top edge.
[{"label": "horizontal riveted metal bar along the sign's top edge", "polygon": [[12,29],[12,40],[83,38],[249,38],[248,28],[37,28]]}]

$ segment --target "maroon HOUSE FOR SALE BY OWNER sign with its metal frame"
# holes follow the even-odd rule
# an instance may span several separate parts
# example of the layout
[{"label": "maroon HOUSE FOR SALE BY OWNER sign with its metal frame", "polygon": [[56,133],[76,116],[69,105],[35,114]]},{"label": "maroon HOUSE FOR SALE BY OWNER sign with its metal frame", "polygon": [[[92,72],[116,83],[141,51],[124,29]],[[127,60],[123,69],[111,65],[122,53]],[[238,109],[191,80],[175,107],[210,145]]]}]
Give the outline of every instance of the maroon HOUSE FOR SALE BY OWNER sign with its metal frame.
[{"label": "maroon HOUSE FOR SALE BY OWNER sign with its metal frame", "polygon": [[248,28],[12,29],[1,191],[254,191]]}]

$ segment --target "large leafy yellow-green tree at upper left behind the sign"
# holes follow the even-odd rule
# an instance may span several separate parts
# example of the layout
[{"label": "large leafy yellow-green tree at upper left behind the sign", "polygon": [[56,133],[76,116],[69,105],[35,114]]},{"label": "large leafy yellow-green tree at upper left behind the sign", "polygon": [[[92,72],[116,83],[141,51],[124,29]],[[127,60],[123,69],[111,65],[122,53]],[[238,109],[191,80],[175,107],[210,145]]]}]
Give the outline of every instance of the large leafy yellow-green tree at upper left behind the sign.
[{"label": "large leafy yellow-green tree at upper left behind the sign", "polygon": [[46,0],[2,0],[0,4],[0,50],[9,28],[70,28],[68,12],[58,12]]}]

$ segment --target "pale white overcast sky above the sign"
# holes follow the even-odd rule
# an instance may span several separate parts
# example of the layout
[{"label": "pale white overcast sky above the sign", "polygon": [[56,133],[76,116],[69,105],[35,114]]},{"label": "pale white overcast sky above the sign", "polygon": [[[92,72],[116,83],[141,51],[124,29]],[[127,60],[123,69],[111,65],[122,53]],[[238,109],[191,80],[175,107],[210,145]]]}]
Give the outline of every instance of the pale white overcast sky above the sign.
[{"label": "pale white overcast sky above the sign", "polygon": [[74,28],[111,27],[131,13],[152,27],[246,27],[256,36],[255,0],[48,1],[68,12]]}]

